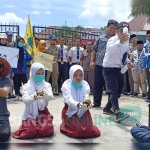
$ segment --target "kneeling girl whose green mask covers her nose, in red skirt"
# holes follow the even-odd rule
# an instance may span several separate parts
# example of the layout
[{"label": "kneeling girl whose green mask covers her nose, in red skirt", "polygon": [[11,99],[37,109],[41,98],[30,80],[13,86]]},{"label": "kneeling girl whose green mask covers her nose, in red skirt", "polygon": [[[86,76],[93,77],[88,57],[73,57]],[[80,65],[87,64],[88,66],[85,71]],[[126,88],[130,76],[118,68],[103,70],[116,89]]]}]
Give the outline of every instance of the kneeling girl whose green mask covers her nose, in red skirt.
[{"label": "kneeling girl whose green mask covers her nose, in red skirt", "polygon": [[17,139],[46,137],[54,134],[53,116],[47,109],[48,101],[53,99],[51,85],[45,82],[45,69],[41,63],[34,63],[30,70],[30,79],[23,86],[25,111],[22,125],[13,133]]}]

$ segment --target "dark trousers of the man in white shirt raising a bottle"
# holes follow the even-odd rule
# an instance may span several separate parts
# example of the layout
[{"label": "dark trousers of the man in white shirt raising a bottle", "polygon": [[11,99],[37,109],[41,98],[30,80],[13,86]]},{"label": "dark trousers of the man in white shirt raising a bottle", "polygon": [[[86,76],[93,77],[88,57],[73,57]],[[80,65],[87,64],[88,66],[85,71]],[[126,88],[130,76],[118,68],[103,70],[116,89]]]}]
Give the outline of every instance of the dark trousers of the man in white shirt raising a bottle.
[{"label": "dark trousers of the man in white shirt raising a bottle", "polygon": [[103,68],[103,75],[109,93],[106,109],[113,107],[113,109],[119,110],[118,98],[121,97],[124,86],[124,76],[120,71],[120,68]]}]

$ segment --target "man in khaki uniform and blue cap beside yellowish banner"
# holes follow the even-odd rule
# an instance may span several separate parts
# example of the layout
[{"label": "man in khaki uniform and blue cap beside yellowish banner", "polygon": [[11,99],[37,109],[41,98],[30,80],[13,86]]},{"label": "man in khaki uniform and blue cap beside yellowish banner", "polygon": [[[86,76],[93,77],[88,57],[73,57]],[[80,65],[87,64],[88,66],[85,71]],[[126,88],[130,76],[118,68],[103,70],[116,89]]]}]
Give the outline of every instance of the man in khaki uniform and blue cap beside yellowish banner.
[{"label": "man in khaki uniform and blue cap beside yellowish banner", "polygon": [[55,35],[50,35],[50,45],[47,48],[47,53],[49,55],[54,56],[53,60],[53,69],[52,71],[49,71],[46,75],[46,81],[50,81],[50,76],[52,75],[52,89],[53,89],[53,94],[59,96],[58,93],[58,54],[59,54],[59,48],[56,45],[56,36]]}]

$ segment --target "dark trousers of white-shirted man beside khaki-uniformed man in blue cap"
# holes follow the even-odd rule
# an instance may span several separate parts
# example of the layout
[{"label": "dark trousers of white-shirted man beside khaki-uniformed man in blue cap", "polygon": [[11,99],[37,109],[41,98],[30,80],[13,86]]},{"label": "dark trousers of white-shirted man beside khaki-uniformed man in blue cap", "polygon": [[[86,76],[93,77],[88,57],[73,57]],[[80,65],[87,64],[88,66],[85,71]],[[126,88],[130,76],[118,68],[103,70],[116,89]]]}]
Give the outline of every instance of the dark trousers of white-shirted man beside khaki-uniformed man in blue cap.
[{"label": "dark trousers of white-shirted man beside khaki-uniformed man in blue cap", "polygon": [[61,86],[65,80],[67,80],[67,63],[61,64],[58,63],[58,89],[61,89]]}]

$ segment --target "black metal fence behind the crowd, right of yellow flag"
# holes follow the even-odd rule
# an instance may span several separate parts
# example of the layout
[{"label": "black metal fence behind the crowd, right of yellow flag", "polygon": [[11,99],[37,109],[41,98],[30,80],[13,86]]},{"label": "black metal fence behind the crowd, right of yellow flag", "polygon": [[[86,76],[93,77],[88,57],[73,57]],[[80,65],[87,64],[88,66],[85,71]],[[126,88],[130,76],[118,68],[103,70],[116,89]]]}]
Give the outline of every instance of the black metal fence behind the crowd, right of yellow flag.
[{"label": "black metal fence behind the crowd, right of yellow flag", "polygon": [[87,40],[95,41],[98,36],[100,36],[103,32],[99,29],[95,28],[83,28],[76,30],[75,28],[63,26],[51,26],[51,27],[42,27],[42,26],[33,26],[33,35],[34,37],[38,37],[39,39],[43,39],[49,41],[49,36],[51,34],[55,34],[57,39],[60,36],[64,36],[67,42],[68,39],[72,39],[74,41],[76,38],[81,39],[81,43],[86,42]]}]

